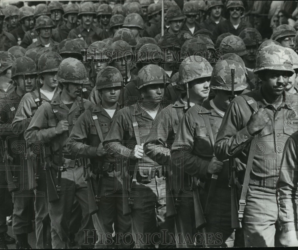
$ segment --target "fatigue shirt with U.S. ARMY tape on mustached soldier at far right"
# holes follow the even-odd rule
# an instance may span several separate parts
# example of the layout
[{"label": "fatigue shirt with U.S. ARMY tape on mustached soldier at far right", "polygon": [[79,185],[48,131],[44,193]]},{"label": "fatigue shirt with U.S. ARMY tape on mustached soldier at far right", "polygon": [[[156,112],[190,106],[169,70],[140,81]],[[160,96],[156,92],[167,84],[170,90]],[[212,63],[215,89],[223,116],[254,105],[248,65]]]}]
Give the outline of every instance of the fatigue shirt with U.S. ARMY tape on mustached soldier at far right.
[{"label": "fatigue shirt with U.S. ARMY tape on mustached soldier at far right", "polygon": [[279,175],[285,142],[291,134],[298,130],[296,107],[298,96],[283,92],[283,95],[280,96],[283,98],[283,102],[276,109],[265,101],[262,89],[260,87],[258,90],[246,93],[249,101],[240,95],[231,102],[218,131],[215,156],[219,161],[237,157],[239,159],[238,171],[244,170],[249,157],[250,144],[254,138],[247,131],[247,123],[254,112],[264,108],[270,121],[257,135],[250,178],[259,181],[272,178],[274,183],[271,183],[270,186],[273,187],[276,186]]}]

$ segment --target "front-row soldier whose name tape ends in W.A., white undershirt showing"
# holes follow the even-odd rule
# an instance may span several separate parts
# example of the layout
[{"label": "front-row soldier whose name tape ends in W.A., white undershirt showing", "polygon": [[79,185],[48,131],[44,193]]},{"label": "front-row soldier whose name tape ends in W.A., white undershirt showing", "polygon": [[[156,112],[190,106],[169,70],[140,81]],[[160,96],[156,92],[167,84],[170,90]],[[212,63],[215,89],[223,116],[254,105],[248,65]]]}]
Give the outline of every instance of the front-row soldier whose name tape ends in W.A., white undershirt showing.
[{"label": "front-row soldier whose name tape ends in W.A., white undershirt showing", "polygon": [[[120,109],[117,101],[121,81],[122,75],[116,68],[108,66],[100,70],[97,74],[96,91],[99,92],[101,101],[78,118],[66,144],[71,155],[90,158],[92,168],[87,181],[91,182],[93,189],[88,189],[92,201],[89,202],[89,211],[92,204],[95,204],[95,199],[98,204],[98,208],[95,205],[97,212],[90,212],[94,213],[93,223],[98,234],[95,248],[130,248],[124,243],[127,241],[122,240],[123,234],[131,233],[131,220],[128,216],[123,216],[121,169],[115,158],[107,155],[102,145],[111,126],[111,119]],[[97,182],[98,178],[100,180]],[[109,244],[106,238],[107,234],[114,231],[113,223],[117,225],[114,226],[116,235],[120,233],[116,245],[115,242]]]}]

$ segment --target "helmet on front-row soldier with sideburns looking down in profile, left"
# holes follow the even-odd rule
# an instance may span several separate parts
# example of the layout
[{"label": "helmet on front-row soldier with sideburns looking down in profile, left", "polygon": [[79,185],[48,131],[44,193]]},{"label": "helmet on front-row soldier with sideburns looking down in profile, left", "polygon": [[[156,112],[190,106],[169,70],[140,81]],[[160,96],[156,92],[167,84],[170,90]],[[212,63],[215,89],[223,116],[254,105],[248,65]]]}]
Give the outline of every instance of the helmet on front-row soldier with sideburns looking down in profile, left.
[{"label": "helmet on front-row soldier with sideburns looking down in profile, left", "polygon": [[74,84],[86,84],[89,81],[84,64],[72,57],[60,63],[56,78],[59,82]]}]

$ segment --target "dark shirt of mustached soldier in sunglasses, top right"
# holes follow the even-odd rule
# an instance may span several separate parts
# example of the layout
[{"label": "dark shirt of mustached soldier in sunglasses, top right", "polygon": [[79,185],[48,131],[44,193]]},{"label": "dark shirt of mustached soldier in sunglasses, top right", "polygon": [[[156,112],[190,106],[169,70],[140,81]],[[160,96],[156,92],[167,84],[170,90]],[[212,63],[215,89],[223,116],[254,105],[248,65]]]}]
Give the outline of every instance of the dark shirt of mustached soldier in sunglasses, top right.
[{"label": "dark shirt of mustached soldier in sunglasses, top right", "polygon": [[232,35],[239,36],[240,32],[246,28],[252,28],[252,24],[241,20],[239,26],[235,29],[229,19],[220,21],[213,30],[212,41],[216,41],[218,36],[224,33],[231,33]]}]

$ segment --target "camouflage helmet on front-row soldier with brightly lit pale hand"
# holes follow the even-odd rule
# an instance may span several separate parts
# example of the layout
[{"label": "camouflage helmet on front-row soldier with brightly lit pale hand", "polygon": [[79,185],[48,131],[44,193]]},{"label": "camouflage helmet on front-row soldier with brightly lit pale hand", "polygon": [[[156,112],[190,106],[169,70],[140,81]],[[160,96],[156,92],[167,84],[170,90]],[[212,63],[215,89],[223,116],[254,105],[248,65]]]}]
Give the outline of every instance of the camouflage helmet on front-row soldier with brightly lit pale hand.
[{"label": "camouflage helmet on front-row soldier with brightly lit pale hand", "polygon": [[[136,80],[137,87],[140,89],[151,84],[164,83],[164,75],[167,75],[167,73],[162,67],[154,64],[146,65],[145,67],[142,67],[138,73]],[[167,83],[169,82],[167,81]]]}]

